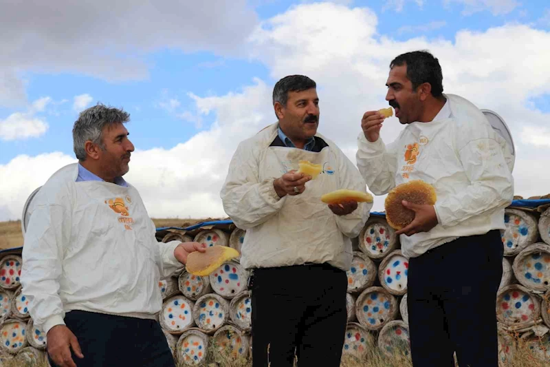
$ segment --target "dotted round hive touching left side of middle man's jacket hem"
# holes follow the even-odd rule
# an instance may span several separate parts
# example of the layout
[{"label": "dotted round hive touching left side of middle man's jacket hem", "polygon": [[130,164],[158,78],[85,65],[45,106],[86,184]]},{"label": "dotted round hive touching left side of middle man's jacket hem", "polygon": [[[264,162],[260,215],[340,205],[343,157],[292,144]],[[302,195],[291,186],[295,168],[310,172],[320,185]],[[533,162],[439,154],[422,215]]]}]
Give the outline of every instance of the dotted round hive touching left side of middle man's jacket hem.
[{"label": "dotted round hive touching left side of middle man's jacket hem", "polygon": [[236,261],[222,264],[209,276],[212,291],[225,298],[232,298],[245,291],[248,282],[248,271]]}]

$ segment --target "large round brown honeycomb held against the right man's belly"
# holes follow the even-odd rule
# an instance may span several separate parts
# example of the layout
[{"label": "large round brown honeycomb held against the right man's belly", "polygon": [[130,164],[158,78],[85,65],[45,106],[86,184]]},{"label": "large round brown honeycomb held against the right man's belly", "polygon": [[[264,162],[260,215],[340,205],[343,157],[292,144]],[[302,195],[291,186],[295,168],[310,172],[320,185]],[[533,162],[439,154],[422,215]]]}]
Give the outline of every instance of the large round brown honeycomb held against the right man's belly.
[{"label": "large round brown honeycomb held against the right man's belly", "polygon": [[434,205],[437,195],[434,187],[422,180],[412,180],[394,187],[384,202],[386,220],[393,229],[403,229],[415,219],[415,212],[404,207],[401,203],[403,200],[419,205]]}]

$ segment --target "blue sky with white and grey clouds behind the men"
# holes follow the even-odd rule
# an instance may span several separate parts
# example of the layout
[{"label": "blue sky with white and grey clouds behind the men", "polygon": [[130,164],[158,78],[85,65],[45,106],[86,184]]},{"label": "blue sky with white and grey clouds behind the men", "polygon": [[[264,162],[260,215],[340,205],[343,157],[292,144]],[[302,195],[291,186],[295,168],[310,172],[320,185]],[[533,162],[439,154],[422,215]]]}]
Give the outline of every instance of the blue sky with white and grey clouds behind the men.
[{"label": "blue sky with white and grey clouds behind the men", "polygon": [[[549,45],[545,0],[0,0],[0,221],[76,162],[72,126],[96,103],[131,114],[124,178],[151,217],[223,218],[228,163],[276,122],[276,81],[316,81],[319,132],[355,163],[362,114],[387,107],[388,65],[412,50],[439,59],[444,92],[504,118],[516,195],[544,195]],[[390,118],[382,138],[401,129]]]}]

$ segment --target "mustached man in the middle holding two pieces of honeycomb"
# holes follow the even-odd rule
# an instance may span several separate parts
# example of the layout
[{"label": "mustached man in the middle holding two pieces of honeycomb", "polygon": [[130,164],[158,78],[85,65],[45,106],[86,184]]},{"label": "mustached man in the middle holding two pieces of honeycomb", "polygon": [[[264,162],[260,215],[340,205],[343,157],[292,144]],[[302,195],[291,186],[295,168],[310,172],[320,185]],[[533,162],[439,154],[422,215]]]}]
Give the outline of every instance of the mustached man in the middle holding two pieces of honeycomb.
[{"label": "mustached man in the middle holding two pieces of honeycomb", "polygon": [[[340,366],[350,238],[372,204],[325,205],[336,189],[366,192],[358,169],[318,134],[316,83],[293,75],[273,90],[278,123],[239,144],[221,190],[225,213],[246,230],[241,264],[252,270],[254,367]],[[311,176],[298,162],[322,167]]]}]

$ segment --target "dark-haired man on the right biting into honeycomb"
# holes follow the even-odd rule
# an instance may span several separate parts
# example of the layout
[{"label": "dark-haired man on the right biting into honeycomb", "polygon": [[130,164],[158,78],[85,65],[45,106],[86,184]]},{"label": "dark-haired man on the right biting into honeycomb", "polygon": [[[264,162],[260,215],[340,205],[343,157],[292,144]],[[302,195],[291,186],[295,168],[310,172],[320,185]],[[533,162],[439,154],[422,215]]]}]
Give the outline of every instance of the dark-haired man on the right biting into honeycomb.
[{"label": "dark-haired man on the right biting into honeycomb", "polygon": [[406,125],[384,145],[378,112],[366,112],[358,167],[377,195],[409,180],[435,187],[435,205],[397,231],[408,269],[412,364],[498,366],[496,292],[502,276],[504,208],[514,196],[512,157],[477,107],[443,94],[439,61],[401,54],[390,65],[386,101]]}]

